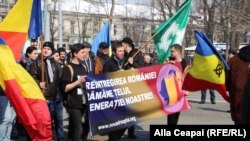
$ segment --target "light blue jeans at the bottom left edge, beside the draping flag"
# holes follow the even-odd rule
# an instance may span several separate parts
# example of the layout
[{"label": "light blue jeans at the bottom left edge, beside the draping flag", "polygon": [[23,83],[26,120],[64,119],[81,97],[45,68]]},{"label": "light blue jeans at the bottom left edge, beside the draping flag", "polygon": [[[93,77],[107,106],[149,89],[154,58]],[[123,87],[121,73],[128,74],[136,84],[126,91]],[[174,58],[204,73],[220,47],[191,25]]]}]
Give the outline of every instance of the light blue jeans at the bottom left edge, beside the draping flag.
[{"label": "light blue jeans at the bottom left edge, beside the draping flag", "polygon": [[9,141],[16,113],[6,96],[0,96],[0,141]]}]

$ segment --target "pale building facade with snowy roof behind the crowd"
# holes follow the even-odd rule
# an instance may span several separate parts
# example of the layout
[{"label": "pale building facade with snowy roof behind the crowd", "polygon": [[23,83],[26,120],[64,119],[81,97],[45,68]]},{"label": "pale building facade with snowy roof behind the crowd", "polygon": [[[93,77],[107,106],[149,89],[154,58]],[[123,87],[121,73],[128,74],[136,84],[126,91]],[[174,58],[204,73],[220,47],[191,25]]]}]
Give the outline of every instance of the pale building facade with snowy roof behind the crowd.
[{"label": "pale building facade with snowy roof behind the crowd", "polygon": [[[91,2],[85,1],[86,3],[93,4]],[[0,22],[5,18],[8,11],[16,3],[16,0],[0,0]],[[98,5],[97,5],[98,6]],[[112,40],[121,40],[122,38],[128,36],[131,37],[136,46],[142,45],[150,37],[152,31],[157,27],[163,20],[152,20],[152,18],[147,17],[145,12],[139,12],[140,9],[147,9],[148,7],[132,7],[137,8],[137,11],[133,11],[132,8],[127,8],[124,5],[119,5],[121,8],[126,9],[126,14],[115,11],[112,18],[112,24],[110,29],[110,36]],[[119,8],[118,6],[118,8]],[[85,12],[74,12],[74,9],[62,8],[62,46],[68,49],[70,44],[82,41],[91,42],[92,39],[100,31],[104,23],[109,20],[107,14],[105,13],[96,13],[91,10]],[[130,6],[131,7],[131,6]],[[57,5],[50,5],[50,34],[51,41],[54,42],[55,47],[58,45],[58,8]],[[128,9],[128,11],[127,11]],[[119,11],[119,10],[118,10]],[[132,15],[131,13],[135,13]],[[147,17],[147,18],[146,18]],[[152,46],[152,43],[149,44],[149,47]]]}]

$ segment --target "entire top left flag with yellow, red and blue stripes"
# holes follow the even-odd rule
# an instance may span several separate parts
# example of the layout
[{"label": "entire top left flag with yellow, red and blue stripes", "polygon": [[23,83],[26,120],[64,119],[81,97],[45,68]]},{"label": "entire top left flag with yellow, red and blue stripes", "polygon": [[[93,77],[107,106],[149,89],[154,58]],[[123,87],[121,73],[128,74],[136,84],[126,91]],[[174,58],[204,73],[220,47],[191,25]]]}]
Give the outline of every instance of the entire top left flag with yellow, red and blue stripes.
[{"label": "entire top left flag with yellow, red and blue stripes", "polygon": [[18,0],[2,23],[0,36],[11,48],[17,61],[27,38],[42,33],[41,0]]}]

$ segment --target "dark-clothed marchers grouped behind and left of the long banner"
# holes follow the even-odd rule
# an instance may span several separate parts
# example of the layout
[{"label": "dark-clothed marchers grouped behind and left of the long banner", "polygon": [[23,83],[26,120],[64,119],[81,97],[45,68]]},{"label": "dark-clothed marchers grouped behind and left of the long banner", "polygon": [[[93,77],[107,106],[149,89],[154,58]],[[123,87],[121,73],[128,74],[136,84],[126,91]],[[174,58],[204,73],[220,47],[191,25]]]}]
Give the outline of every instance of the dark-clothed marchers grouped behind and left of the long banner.
[{"label": "dark-clothed marchers grouped behind and left of the long banner", "polygon": [[[99,44],[96,55],[91,51],[91,44],[88,42],[71,45],[70,52],[63,48],[56,50],[52,42],[45,42],[41,54],[38,54],[37,42],[32,40],[20,64],[34,78],[44,94],[56,140],[65,139],[63,107],[69,115],[68,138],[73,141],[87,140],[89,125],[85,76],[152,65],[150,55],[137,51],[133,40],[126,37],[112,44],[111,57],[106,42]],[[135,53],[138,55],[132,57]],[[31,140],[19,124],[4,91],[2,88],[0,90],[0,106],[1,109],[5,109],[5,112],[0,114],[0,140],[10,140],[11,133],[14,134],[13,138],[17,138],[17,130],[22,132],[27,140]],[[134,126],[128,128],[129,138],[136,138],[134,130]],[[107,133],[109,140],[118,140],[124,131],[120,132],[120,135],[119,131]]]}]

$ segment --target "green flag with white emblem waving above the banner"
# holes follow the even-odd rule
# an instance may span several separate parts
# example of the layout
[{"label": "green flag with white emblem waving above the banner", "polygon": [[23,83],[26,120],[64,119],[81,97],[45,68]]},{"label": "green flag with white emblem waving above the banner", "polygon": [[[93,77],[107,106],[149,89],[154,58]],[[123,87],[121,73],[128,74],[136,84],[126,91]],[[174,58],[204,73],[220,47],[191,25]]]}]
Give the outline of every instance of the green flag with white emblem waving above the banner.
[{"label": "green flag with white emblem waving above the banner", "polygon": [[164,63],[170,56],[170,46],[173,44],[182,45],[186,26],[189,19],[191,1],[186,3],[166,22],[160,25],[154,34],[157,59],[160,64]]}]

